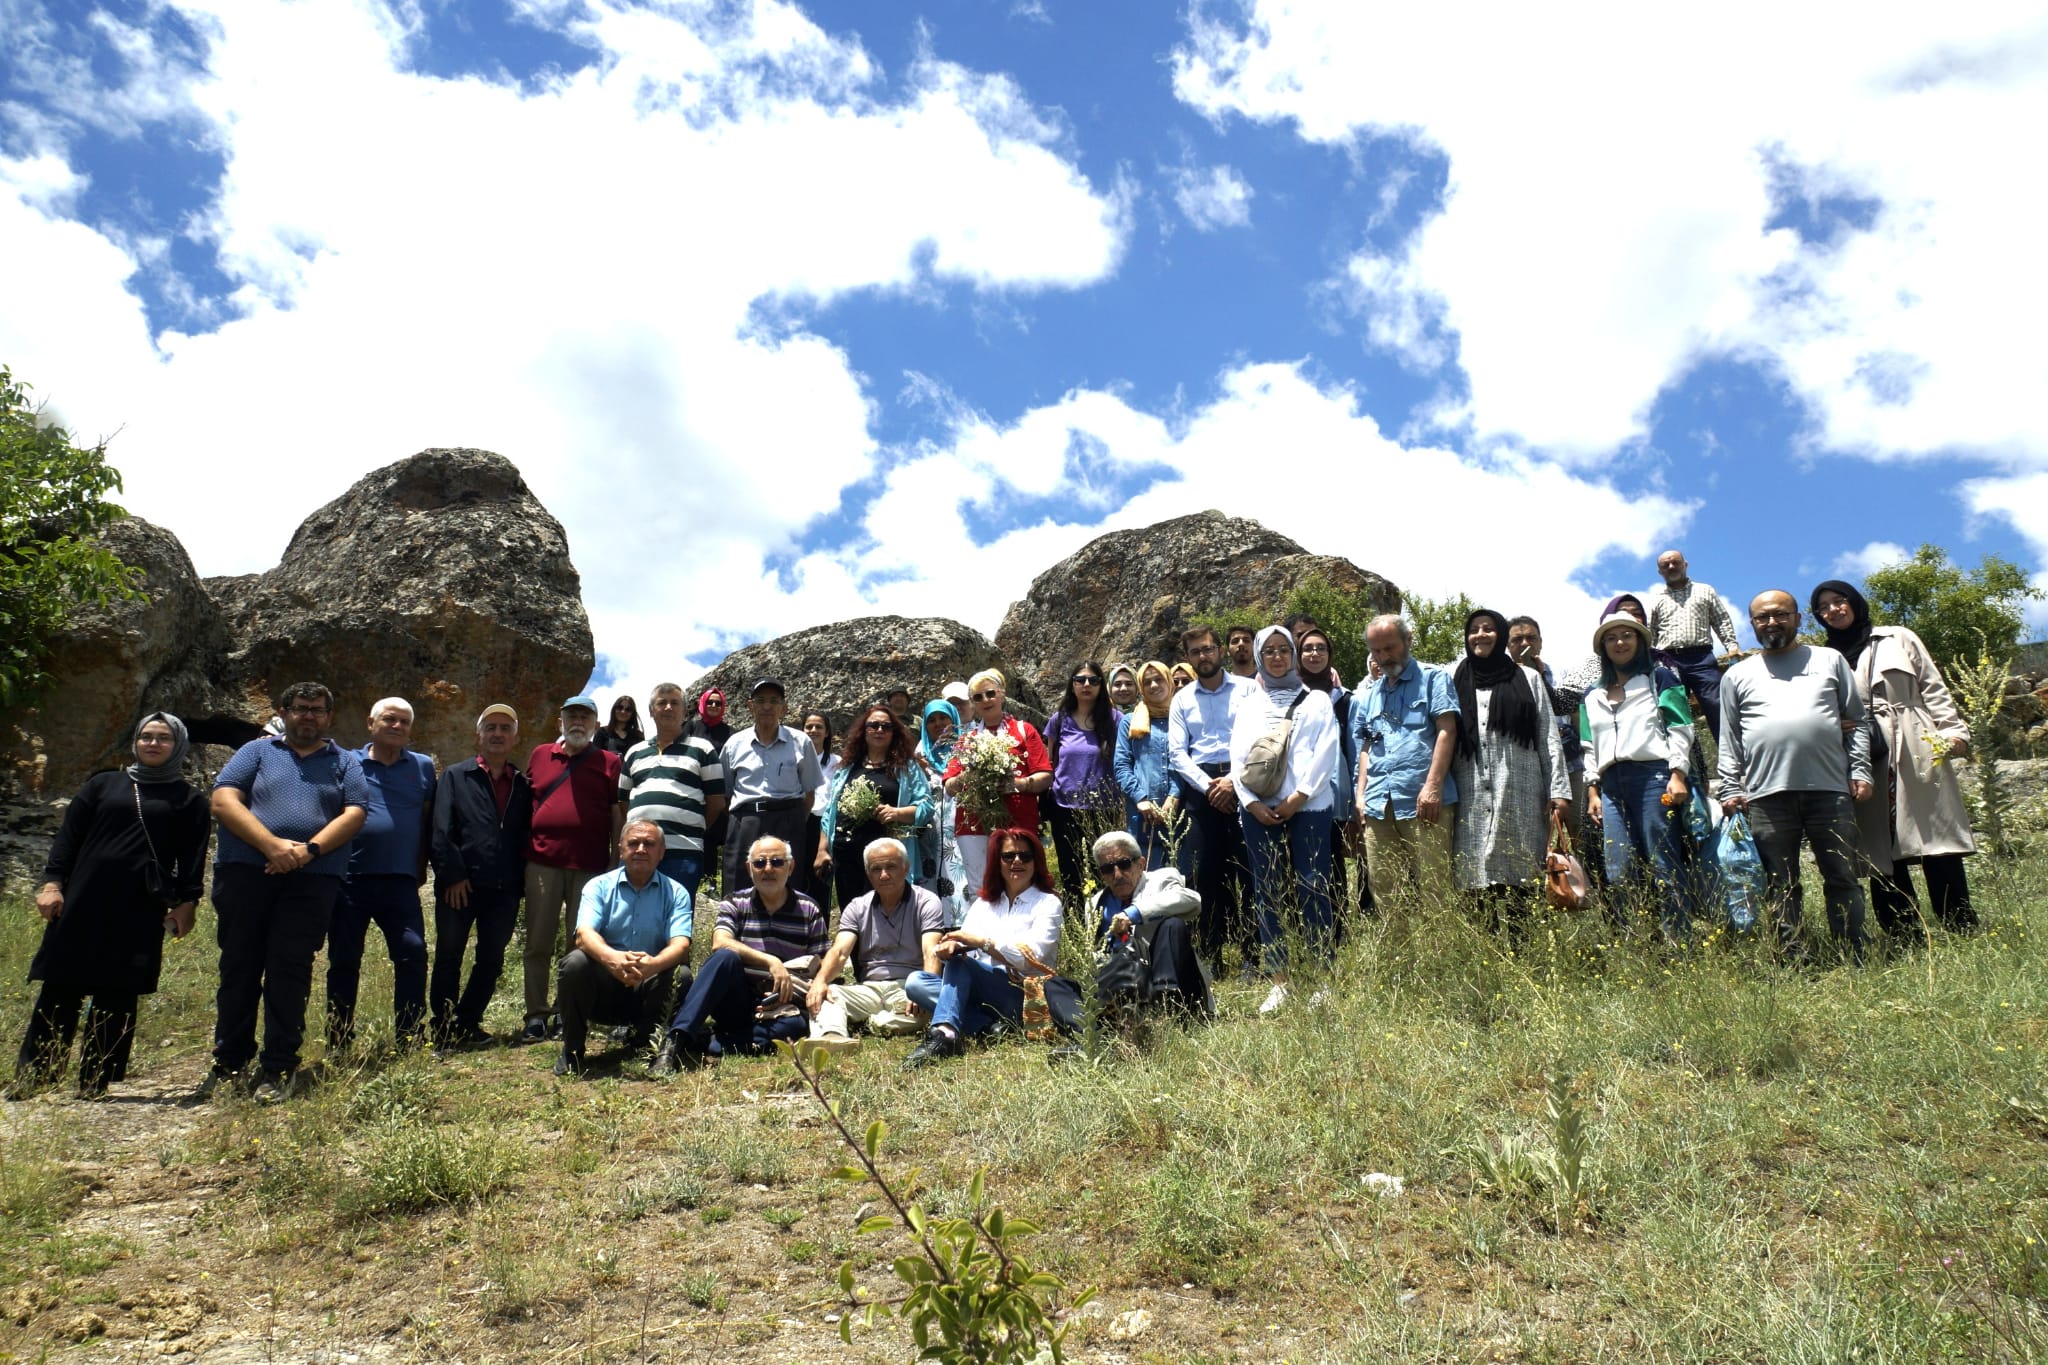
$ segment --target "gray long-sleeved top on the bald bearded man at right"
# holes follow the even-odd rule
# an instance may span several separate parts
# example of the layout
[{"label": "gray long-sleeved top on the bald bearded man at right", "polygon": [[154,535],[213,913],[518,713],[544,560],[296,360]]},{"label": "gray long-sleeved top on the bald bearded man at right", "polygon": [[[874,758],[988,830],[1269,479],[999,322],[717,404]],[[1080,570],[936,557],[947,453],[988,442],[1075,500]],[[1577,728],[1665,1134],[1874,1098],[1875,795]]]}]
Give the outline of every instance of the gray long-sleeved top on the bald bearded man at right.
[{"label": "gray long-sleeved top on the bald bearded man at right", "polygon": [[[1841,733],[1841,722],[1855,729]],[[1870,733],[1849,661],[1825,645],[1749,655],[1720,677],[1720,796],[1849,792]]]}]

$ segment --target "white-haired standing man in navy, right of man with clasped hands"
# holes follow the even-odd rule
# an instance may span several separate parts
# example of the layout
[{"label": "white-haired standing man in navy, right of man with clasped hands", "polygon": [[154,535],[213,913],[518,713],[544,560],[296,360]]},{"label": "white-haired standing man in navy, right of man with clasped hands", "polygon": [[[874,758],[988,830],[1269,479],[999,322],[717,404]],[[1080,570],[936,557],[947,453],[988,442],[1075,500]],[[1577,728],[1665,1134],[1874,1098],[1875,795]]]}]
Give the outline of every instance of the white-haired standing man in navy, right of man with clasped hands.
[{"label": "white-haired standing man in navy, right of man with clasped hands", "polygon": [[408,749],[412,702],[387,696],[371,706],[371,743],[356,751],[369,782],[362,831],[348,845],[348,880],[328,929],[328,1050],[356,1038],[356,986],[371,925],[391,952],[391,1023],[397,1044],[418,1040],[426,1019],[426,845],[434,829],[434,759]]}]

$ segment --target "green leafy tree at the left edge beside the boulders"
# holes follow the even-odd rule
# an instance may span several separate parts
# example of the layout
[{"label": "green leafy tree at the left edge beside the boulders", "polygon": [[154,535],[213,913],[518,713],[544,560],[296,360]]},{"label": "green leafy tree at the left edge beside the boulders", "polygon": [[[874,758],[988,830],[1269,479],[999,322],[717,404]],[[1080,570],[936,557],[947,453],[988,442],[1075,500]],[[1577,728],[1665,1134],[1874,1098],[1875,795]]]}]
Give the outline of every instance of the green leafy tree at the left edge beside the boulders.
[{"label": "green leafy tree at the left edge beside the boulders", "polygon": [[119,489],[106,444],[74,446],[0,366],[0,706],[49,681],[49,641],[78,604],[141,596],[135,573],[94,540],[127,516],[106,501]]}]

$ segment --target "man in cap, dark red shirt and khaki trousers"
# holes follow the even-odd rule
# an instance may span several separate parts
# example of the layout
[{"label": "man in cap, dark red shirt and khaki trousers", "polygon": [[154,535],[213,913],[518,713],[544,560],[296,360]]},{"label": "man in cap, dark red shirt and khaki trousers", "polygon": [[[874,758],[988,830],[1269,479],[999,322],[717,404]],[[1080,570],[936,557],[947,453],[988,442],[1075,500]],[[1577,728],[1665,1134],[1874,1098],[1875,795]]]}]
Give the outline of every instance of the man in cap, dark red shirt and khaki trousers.
[{"label": "man in cap, dark red shirt and khaki trousers", "polygon": [[532,747],[532,833],[526,839],[526,1027],[522,1042],[547,1038],[547,986],[555,976],[555,933],[567,921],[575,941],[575,909],[584,882],[612,864],[612,808],[618,804],[618,755],[596,743],[598,702],[571,696],[561,704],[561,739]]}]

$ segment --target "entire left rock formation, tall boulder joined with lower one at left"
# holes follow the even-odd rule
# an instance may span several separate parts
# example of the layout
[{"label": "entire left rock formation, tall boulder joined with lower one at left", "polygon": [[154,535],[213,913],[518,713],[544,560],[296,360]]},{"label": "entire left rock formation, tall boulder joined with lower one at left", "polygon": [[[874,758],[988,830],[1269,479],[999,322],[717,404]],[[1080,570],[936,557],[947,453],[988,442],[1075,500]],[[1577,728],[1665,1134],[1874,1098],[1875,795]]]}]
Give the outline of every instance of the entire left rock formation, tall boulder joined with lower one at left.
[{"label": "entire left rock formation, tall boulder joined with lower one at left", "polygon": [[362,743],[371,702],[397,694],[418,708],[414,745],[457,759],[487,702],[510,702],[535,737],[590,677],[567,536],[487,450],[422,450],[358,479],[268,573],[201,581],[176,536],[139,518],[106,544],[141,571],[147,602],[80,608],[49,692],[4,718],[0,786],[31,800],[123,761],[158,708],[199,743],[233,745],[276,692],[313,679],[336,694],[334,737]]}]

